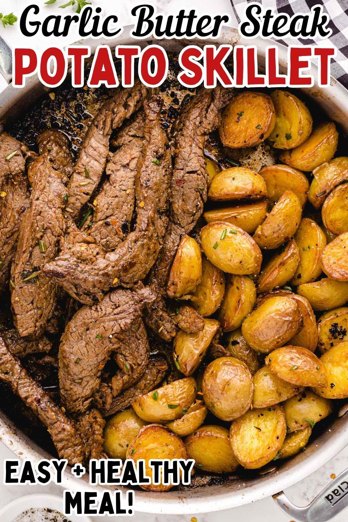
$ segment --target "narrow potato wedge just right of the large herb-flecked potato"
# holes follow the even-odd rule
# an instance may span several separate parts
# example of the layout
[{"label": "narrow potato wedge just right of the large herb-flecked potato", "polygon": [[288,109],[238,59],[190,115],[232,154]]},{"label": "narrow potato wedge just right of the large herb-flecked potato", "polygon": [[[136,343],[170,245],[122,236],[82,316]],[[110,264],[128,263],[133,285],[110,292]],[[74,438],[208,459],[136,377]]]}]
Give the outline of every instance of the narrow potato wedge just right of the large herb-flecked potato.
[{"label": "narrow potato wedge just right of the large herb-flecked potato", "polygon": [[287,243],[286,248],[280,254],[275,254],[266,265],[261,268],[257,280],[257,291],[267,292],[275,287],[284,286],[290,281],[296,272],[299,263],[298,247],[294,240]]}]

